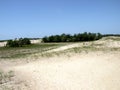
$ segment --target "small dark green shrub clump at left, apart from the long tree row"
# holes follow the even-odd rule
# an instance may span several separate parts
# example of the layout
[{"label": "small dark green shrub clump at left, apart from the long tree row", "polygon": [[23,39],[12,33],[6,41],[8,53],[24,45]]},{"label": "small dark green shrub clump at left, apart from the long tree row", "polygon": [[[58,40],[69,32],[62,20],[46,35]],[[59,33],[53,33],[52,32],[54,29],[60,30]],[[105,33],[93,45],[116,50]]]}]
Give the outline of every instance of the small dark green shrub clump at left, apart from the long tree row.
[{"label": "small dark green shrub clump at left, apart from the long tree row", "polygon": [[6,46],[8,47],[22,47],[23,45],[31,44],[28,38],[20,38],[15,40],[8,40]]}]

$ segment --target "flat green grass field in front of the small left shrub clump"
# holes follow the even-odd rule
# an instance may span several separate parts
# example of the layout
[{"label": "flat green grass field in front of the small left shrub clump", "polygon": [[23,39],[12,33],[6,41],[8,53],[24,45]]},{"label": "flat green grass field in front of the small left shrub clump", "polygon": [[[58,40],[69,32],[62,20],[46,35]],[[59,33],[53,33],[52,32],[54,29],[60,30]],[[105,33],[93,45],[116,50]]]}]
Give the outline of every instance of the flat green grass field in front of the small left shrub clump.
[{"label": "flat green grass field in front of the small left shrub clump", "polygon": [[41,43],[24,47],[0,47],[0,58],[24,58],[31,54],[43,53],[45,51],[66,45],[65,43]]}]

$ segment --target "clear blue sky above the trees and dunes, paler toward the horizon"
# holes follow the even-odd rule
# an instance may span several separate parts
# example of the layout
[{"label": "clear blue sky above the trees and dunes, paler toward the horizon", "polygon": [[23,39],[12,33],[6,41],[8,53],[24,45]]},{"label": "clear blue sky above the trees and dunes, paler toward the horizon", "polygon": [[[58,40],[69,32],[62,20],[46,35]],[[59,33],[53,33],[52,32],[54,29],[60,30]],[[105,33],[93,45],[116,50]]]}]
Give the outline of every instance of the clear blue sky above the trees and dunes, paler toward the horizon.
[{"label": "clear blue sky above the trees and dunes, paler toward the horizon", "polygon": [[0,39],[120,34],[120,0],[0,0]]}]

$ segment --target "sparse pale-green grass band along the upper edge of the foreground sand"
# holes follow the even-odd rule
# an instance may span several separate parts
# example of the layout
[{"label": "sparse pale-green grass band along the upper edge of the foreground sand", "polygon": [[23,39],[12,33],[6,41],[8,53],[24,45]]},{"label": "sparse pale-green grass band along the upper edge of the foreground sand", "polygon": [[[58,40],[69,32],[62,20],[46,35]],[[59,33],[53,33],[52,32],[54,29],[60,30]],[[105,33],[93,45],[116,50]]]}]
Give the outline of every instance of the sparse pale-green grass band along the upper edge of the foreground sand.
[{"label": "sparse pale-green grass band along the upper edge of the foreground sand", "polygon": [[[99,47],[96,47],[99,46]],[[96,51],[102,51],[102,52],[112,52],[112,51],[120,51],[120,48],[109,48],[109,47],[104,47],[104,44],[97,44],[97,43],[91,43],[87,46],[80,46],[80,47],[74,47],[74,48],[69,48],[63,51],[57,51],[57,52],[47,52],[47,53],[41,53],[39,56],[41,57],[53,57],[53,56],[72,56],[72,53],[89,53],[89,52],[96,52]],[[36,55],[35,57],[37,57]]]}]

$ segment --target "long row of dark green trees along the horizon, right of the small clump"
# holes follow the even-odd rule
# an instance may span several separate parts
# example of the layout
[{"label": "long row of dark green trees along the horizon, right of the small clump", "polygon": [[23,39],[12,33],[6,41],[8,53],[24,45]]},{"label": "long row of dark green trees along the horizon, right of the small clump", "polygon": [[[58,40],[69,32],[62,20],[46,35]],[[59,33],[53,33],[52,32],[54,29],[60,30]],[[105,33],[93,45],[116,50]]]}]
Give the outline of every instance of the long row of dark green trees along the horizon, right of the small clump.
[{"label": "long row of dark green trees along the horizon, right of the small clump", "polygon": [[100,33],[78,33],[74,35],[61,34],[43,37],[43,42],[79,42],[79,41],[94,41],[102,38]]}]

